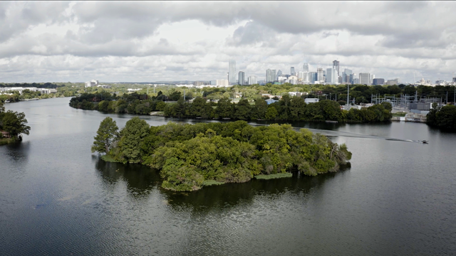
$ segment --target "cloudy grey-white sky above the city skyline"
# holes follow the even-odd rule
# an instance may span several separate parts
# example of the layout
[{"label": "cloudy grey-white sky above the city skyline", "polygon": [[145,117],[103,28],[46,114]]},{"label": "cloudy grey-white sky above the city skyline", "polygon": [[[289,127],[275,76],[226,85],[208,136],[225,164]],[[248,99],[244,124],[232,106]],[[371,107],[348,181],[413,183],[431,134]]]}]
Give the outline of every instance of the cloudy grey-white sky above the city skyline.
[{"label": "cloudy grey-white sky above the city skyline", "polygon": [[247,79],[332,66],[451,80],[455,1],[0,1],[0,82]]}]

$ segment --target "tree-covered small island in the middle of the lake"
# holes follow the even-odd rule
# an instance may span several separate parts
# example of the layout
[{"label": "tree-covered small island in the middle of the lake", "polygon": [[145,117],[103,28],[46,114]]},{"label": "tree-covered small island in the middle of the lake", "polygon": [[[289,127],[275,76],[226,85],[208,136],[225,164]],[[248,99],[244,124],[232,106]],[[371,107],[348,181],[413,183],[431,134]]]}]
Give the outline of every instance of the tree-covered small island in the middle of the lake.
[{"label": "tree-covered small island in the middle of the lake", "polygon": [[106,153],[104,159],[158,169],[162,186],[175,191],[195,191],[207,181],[245,182],[258,174],[294,170],[316,176],[338,171],[351,159],[345,144],[307,129],[296,132],[289,124],[252,127],[237,121],[150,127],[139,117],[120,132],[106,117],[92,151]]}]

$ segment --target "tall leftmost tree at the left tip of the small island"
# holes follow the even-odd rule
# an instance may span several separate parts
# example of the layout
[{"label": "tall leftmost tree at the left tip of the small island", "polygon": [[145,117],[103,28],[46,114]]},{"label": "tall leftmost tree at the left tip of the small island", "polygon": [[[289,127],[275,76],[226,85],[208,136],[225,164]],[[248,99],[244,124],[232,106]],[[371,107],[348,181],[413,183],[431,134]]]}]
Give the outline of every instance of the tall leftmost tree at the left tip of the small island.
[{"label": "tall leftmost tree at the left tip of the small island", "polygon": [[118,127],[115,121],[106,117],[101,121],[100,127],[98,127],[97,136],[93,137],[95,142],[92,145],[92,153],[98,151],[99,153],[108,154],[113,143],[118,139]]}]

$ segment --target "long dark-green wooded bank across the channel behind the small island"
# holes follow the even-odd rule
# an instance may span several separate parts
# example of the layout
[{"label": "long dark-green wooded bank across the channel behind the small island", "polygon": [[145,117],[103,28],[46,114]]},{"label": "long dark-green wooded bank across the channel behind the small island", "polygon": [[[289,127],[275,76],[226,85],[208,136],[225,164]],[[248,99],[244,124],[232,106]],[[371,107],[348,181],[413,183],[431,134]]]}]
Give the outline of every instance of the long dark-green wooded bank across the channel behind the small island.
[{"label": "long dark-green wooded bank across the channel behind the small island", "polygon": [[[196,97],[192,103],[181,97],[175,103],[167,104],[159,96],[147,98],[147,95],[136,93],[118,97],[108,92],[84,94],[73,97],[70,106],[83,110],[100,110],[105,112],[150,114],[152,111],[163,111],[165,117],[202,118],[202,119],[239,119],[239,120],[284,120],[324,122],[384,122],[391,119],[391,105],[363,108],[361,110],[341,110],[341,105],[332,100],[321,100],[307,104],[302,97],[282,96],[281,100],[267,105],[263,98],[239,100],[237,104],[224,97],[215,102],[207,102]],[[113,100],[118,99],[118,100]]]}]

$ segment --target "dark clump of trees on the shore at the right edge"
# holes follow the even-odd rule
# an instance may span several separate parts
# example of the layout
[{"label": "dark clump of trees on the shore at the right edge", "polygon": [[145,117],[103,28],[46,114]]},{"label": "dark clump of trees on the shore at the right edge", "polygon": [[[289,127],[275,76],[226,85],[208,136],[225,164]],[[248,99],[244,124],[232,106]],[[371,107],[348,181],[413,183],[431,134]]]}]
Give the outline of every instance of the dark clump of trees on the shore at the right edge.
[{"label": "dark clump of trees on the shore at the right edge", "polygon": [[438,107],[432,104],[432,109],[426,115],[426,123],[449,132],[456,132],[456,106],[446,105]]}]

